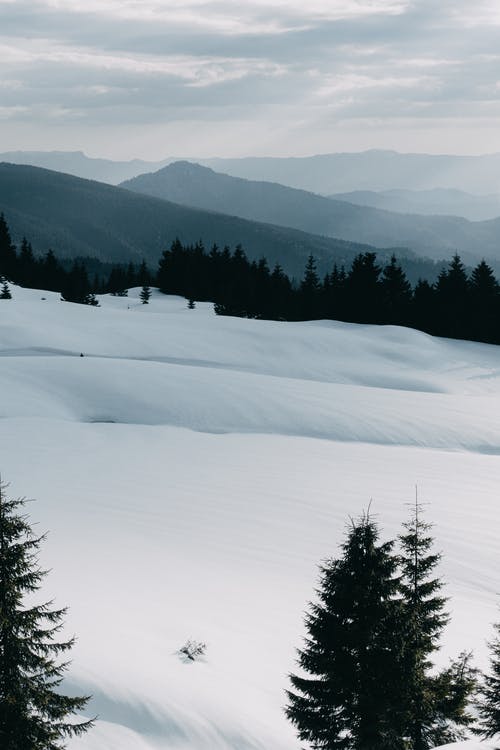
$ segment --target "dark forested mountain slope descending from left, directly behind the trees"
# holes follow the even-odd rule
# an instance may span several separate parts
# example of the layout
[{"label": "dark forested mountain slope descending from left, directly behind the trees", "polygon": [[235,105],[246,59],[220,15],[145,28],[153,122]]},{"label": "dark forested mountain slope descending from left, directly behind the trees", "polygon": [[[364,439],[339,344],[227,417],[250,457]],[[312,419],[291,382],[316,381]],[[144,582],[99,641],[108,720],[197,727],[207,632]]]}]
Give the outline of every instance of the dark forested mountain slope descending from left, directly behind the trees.
[{"label": "dark forested mountain slope descending from left, directly behind the trees", "polygon": [[[298,277],[309,254],[322,272],[334,261],[349,264],[373,247],[247,221],[134,193],[38,167],[0,164],[0,213],[19,242],[25,235],[38,253],[94,256],[113,262],[145,259],[153,266],[176,238],[202,239],[234,248],[249,258],[265,256]],[[402,253],[403,254],[403,253]],[[386,257],[388,253],[385,254]]]}]

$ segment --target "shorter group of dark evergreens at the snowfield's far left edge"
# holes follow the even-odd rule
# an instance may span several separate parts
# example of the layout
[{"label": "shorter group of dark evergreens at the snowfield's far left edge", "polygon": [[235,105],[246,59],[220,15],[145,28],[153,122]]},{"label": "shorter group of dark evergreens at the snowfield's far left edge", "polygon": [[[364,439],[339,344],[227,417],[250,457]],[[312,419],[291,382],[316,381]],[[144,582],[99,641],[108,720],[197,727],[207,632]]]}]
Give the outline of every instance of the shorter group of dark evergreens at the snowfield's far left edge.
[{"label": "shorter group of dark evergreens at the snowfield's far left edge", "polygon": [[[145,261],[139,265],[103,264],[92,258],[62,261],[52,250],[39,257],[26,238],[17,249],[3,214],[0,215],[0,278],[2,277],[4,294],[5,279],[8,279],[28,289],[59,292],[67,302],[85,305],[96,305],[96,294],[126,296],[130,287],[149,287],[154,280]],[[8,297],[4,296],[3,299]]]}]

